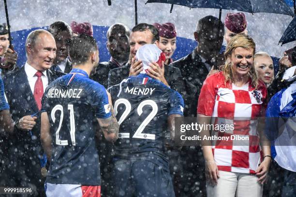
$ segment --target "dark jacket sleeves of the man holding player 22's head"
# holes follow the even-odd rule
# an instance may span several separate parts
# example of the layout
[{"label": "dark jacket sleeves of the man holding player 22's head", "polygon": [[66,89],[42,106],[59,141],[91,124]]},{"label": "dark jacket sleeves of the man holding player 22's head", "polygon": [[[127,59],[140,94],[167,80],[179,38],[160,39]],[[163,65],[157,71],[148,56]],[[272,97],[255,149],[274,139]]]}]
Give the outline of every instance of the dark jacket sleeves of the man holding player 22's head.
[{"label": "dark jacket sleeves of the man holding player 22's head", "polygon": [[[108,77],[108,87],[119,84],[122,80],[128,78],[130,67],[131,64],[126,64],[120,68],[110,70]],[[179,69],[164,65],[164,78],[173,90],[178,91],[181,95],[183,92],[185,92],[184,82]]]}]

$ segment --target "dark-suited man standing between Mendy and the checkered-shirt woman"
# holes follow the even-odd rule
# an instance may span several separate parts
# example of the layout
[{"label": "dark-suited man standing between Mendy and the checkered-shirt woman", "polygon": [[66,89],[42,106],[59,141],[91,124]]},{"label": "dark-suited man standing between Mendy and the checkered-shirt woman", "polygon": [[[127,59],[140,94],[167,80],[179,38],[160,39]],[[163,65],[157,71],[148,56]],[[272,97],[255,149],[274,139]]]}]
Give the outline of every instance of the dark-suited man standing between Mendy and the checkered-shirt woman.
[{"label": "dark-suited man standing between Mendy and the checkered-shirt woman", "polygon": [[[220,25],[220,33],[218,27]],[[194,32],[198,46],[188,56],[173,62],[171,66],[181,70],[185,81],[184,116],[196,117],[197,101],[201,87],[211,70],[213,57],[219,54],[223,42],[224,25],[214,16],[200,19]],[[206,196],[204,159],[199,146],[183,146],[181,153],[183,166],[180,196]],[[198,186],[197,186],[198,185]],[[186,190],[183,188],[187,188]],[[196,189],[199,188],[199,189]]]}]

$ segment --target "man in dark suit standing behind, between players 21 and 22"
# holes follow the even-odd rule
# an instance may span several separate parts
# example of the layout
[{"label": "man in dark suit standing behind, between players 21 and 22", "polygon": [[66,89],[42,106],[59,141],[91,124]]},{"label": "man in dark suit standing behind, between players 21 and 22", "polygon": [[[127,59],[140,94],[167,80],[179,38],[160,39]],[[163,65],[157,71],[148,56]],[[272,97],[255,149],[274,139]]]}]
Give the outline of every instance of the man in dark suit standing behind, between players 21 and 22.
[{"label": "man in dark suit standing behind, between players 21 and 22", "polygon": [[112,25],[107,31],[107,49],[111,58],[107,62],[101,62],[91,79],[108,87],[109,71],[124,66],[130,56],[131,30],[122,23]]}]

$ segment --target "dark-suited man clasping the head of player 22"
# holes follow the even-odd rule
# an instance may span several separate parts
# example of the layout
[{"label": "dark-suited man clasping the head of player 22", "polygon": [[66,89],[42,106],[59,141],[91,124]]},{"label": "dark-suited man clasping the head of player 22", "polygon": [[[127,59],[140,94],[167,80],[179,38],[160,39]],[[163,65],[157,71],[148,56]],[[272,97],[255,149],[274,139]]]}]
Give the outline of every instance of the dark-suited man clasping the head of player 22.
[{"label": "dark-suited man clasping the head of player 22", "polygon": [[[138,75],[142,70],[142,62],[135,61],[135,54],[139,47],[144,44],[159,44],[159,32],[153,25],[141,23],[133,27],[130,35],[130,56],[132,62],[127,63],[120,68],[112,69],[109,71],[108,87],[119,84],[123,79]],[[180,70],[172,66],[163,66],[160,68],[157,64],[151,65],[151,69],[148,69],[148,75],[154,79],[157,79],[163,84],[170,86],[172,89],[182,94],[184,92],[184,82]]]}]

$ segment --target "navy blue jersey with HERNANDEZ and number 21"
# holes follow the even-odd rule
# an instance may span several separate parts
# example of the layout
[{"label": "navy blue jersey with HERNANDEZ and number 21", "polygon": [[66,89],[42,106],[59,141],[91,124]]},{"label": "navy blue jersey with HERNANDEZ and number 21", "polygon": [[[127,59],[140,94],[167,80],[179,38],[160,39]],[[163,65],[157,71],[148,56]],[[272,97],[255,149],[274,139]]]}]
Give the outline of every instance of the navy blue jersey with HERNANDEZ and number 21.
[{"label": "navy blue jersey with HERNANDEZ and number 21", "polygon": [[52,136],[46,182],[100,185],[96,118],[111,116],[104,86],[89,79],[85,71],[73,69],[46,88],[42,103]]}]

